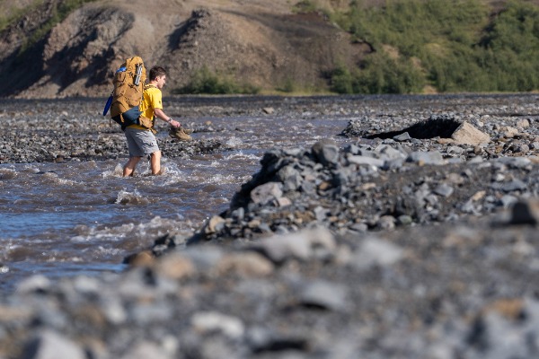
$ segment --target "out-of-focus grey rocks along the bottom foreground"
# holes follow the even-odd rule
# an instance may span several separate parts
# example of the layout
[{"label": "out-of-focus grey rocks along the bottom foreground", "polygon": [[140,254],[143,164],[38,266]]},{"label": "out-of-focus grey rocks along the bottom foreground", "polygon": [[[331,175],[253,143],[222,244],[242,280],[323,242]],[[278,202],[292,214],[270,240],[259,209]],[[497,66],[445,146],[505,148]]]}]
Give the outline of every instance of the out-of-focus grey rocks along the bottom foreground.
[{"label": "out-of-focus grey rocks along the bottom foreground", "polygon": [[1,305],[0,356],[535,357],[536,231],[500,218],[312,227],[101,279],[31,277]]}]

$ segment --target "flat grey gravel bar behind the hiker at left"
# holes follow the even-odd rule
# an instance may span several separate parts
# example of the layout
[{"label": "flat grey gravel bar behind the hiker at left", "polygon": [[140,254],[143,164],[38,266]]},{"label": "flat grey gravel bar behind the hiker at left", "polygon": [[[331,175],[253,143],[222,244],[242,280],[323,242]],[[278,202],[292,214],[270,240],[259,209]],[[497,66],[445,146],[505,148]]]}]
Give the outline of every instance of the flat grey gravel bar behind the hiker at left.
[{"label": "flat grey gravel bar behind the hiker at left", "polygon": [[[58,111],[58,103],[69,111]],[[0,113],[5,125],[0,163],[101,161],[125,156],[125,136],[119,126],[109,117],[96,119],[95,107],[87,107],[84,101],[38,101],[4,110]],[[212,130],[210,125],[193,129]],[[214,140],[179,142],[169,137],[160,141],[160,147],[170,158],[225,149]]]}]

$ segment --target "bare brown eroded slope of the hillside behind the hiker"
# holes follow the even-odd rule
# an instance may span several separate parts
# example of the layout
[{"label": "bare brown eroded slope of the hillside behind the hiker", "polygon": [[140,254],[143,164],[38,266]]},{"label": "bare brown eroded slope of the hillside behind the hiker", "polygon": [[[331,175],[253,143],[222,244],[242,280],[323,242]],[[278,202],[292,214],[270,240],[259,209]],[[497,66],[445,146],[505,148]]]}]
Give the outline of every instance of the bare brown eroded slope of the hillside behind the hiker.
[{"label": "bare brown eroded slope of the hillside behind the hiker", "polygon": [[[169,92],[204,67],[261,89],[314,88],[361,52],[346,32],[321,15],[294,13],[287,0],[93,1],[36,38],[67,3],[34,5],[0,33],[0,96],[106,96],[133,55],[168,69]],[[7,9],[16,4],[4,0]]]}]

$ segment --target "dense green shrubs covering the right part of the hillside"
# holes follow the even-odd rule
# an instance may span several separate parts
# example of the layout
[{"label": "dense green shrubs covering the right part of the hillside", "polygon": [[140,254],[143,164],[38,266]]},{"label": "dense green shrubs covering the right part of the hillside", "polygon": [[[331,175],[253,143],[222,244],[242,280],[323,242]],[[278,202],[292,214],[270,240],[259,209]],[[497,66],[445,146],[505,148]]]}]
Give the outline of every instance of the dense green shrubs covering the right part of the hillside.
[{"label": "dense green shrubs covering the right part of the hillside", "polygon": [[530,92],[539,89],[539,6],[509,0],[498,13],[480,0],[353,1],[331,19],[374,52],[337,66],[339,93]]}]

